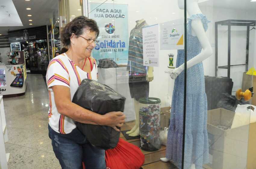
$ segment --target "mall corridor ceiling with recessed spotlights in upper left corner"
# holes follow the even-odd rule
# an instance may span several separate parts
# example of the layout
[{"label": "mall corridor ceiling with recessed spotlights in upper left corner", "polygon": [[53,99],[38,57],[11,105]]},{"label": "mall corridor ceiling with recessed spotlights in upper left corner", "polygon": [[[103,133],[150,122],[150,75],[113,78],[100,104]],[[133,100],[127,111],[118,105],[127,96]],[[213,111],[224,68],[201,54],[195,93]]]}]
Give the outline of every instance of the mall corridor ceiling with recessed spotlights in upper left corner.
[{"label": "mall corridor ceiling with recessed spotlights in upper left corner", "polygon": [[[11,1],[11,0],[0,0],[0,6],[2,4],[5,4],[6,1]],[[0,34],[2,34],[2,36],[7,35],[8,31],[24,29],[24,28],[32,28],[32,27],[42,26],[42,25],[50,25],[49,24],[50,19],[53,17],[53,15],[58,16],[58,0],[30,0],[30,1],[12,0],[12,1],[17,10],[18,16],[23,26],[11,25],[13,24],[13,19],[9,19],[10,26],[2,26],[2,22],[0,21]],[[15,10],[15,8],[11,7],[12,10]],[[26,10],[26,8],[31,8],[31,10]],[[1,11],[2,11],[2,7],[1,7]],[[32,16],[27,16],[28,14]],[[0,15],[2,16],[1,12],[0,12]],[[16,15],[16,17],[18,16]],[[8,17],[8,16],[6,15],[4,17]],[[29,19],[32,19],[33,21],[30,22]],[[32,23],[33,25],[29,25],[29,23]]]}]

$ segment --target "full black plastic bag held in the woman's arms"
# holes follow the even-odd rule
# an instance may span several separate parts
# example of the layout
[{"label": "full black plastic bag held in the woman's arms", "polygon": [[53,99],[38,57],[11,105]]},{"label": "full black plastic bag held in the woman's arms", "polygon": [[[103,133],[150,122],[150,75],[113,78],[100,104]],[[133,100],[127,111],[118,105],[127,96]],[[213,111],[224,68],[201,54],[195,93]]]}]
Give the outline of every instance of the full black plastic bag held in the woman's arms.
[{"label": "full black plastic bag held in the woman's arms", "polygon": [[[87,110],[103,115],[111,111],[123,112],[125,97],[95,80],[83,79],[76,90],[72,102]],[[80,122],[75,122],[75,124],[86,136],[89,143],[99,149],[112,149],[116,147],[119,141],[120,132],[117,132],[112,127]]]}]

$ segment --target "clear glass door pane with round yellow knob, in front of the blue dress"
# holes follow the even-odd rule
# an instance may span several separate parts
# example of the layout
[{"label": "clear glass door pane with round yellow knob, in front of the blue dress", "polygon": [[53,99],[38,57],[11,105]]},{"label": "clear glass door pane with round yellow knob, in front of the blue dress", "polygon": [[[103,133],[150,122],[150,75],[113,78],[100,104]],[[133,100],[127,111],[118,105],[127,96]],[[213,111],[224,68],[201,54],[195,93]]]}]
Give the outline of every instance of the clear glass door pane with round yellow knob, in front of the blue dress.
[{"label": "clear glass door pane with round yellow knob, in front of the blue dress", "polygon": [[246,73],[256,63],[256,2],[186,0],[186,6],[184,168],[255,168],[253,76]]}]

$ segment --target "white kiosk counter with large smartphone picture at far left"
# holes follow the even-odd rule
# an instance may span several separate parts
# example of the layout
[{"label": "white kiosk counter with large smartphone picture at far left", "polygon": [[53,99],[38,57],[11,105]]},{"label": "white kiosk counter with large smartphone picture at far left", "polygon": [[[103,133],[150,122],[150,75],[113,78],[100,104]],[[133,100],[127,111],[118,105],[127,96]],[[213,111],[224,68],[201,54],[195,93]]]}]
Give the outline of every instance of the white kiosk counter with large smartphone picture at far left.
[{"label": "white kiosk counter with large smartphone picture at far left", "polygon": [[22,96],[26,92],[27,73],[25,64],[0,65],[0,95]]}]

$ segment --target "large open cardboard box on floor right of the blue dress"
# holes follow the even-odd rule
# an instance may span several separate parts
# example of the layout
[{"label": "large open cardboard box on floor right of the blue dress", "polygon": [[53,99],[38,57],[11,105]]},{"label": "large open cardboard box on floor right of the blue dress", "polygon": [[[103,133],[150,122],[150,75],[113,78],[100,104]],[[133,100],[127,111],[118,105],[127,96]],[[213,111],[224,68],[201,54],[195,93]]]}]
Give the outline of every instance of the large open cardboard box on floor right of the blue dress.
[{"label": "large open cardboard box on floor right of the blue dress", "polygon": [[230,129],[235,112],[208,111],[209,154],[213,169],[256,169],[256,123]]}]

